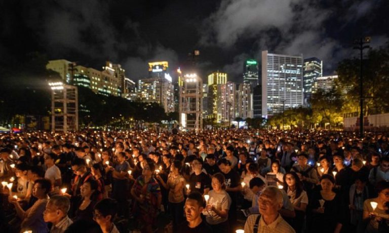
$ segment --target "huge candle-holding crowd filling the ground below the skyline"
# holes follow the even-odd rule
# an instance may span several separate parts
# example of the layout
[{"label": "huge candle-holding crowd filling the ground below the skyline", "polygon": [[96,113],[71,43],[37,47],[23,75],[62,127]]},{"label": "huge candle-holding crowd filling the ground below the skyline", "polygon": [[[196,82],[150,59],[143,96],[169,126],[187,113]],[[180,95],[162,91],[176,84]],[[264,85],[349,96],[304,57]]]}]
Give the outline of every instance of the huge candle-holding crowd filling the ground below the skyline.
[{"label": "huge candle-holding crowd filling the ground below the skyline", "polygon": [[389,232],[388,143],[308,130],[3,133],[0,231]]}]

